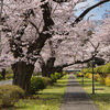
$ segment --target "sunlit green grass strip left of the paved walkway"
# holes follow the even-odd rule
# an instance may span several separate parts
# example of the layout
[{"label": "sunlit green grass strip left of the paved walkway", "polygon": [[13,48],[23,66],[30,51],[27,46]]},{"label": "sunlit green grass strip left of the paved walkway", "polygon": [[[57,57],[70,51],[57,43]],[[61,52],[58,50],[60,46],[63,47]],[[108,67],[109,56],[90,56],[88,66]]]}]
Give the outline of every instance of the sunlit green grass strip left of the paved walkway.
[{"label": "sunlit green grass strip left of the paved walkway", "polygon": [[38,95],[20,100],[9,110],[59,110],[67,80],[68,75],[58,79],[54,86],[40,91]]}]

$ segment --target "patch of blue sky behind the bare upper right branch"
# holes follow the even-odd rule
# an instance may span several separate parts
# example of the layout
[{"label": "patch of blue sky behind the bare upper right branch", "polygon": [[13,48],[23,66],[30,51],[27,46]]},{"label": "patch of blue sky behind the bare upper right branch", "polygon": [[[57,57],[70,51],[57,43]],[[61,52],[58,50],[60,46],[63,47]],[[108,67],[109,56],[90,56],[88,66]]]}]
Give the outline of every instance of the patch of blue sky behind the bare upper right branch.
[{"label": "patch of blue sky behind the bare upper right branch", "polygon": [[[79,9],[84,6],[92,6],[95,3],[97,3],[99,0],[87,0],[87,2],[84,2],[84,3],[79,3],[76,6],[76,9]],[[101,20],[102,19],[102,15],[103,13],[106,12],[106,10],[109,10],[110,11],[110,1],[102,4],[101,7],[98,7],[98,8],[95,8],[94,10],[91,10],[84,19],[87,19],[90,14],[94,14],[94,16],[91,16],[90,19],[92,20]],[[79,9],[77,12],[76,12],[76,15],[79,15],[82,11]]]}]

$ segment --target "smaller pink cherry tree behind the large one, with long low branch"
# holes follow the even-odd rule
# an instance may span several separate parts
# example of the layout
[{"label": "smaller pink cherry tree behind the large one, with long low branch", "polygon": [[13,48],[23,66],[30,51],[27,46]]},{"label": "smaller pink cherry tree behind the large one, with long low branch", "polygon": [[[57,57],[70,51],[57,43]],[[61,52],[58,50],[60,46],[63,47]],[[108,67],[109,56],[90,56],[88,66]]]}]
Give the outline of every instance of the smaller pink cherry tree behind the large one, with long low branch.
[{"label": "smaller pink cherry tree behind the large one, with long low branch", "polygon": [[[90,51],[84,53],[84,50],[87,50],[85,45],[90,38],[89,31],[95,26],[94,22],[82,21],[70,30],[69,35],[62,35],[62,37],[61,35],[53,36],[41,52],[40,65],[43,76],[51,77],[51,74],[55,72],[62,73],[63,68],[69,66],[69,64],[82,64],[81,62],[84,61],[85,63],[87,58],[89,62],[91,59]],[[84,41],[86,41],[85,44]],[[90,42],[89,45],[92,46],[92,48],[98,48],[91,44]],[[85,55],[87,56],[85,57]]]}]

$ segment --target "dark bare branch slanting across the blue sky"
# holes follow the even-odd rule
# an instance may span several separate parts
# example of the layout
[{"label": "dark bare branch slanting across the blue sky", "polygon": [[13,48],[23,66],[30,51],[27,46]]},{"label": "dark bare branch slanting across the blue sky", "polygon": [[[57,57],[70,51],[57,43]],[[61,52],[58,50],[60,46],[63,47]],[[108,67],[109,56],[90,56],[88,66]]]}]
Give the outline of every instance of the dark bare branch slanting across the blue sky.
[{"label": "dark bare branch slanting across the blue sky", "polygon": [[109,1],[110,1],[110,0],[101,0],[100,2],[94,4],[92,7],[87,8],[87,9],[74,21],[74,23],[72,23],[72,25],[74,26],[75,24],[77,24],[78,22],[80,22],[80,21],[84,19],[84,16],[85,16],[89,11],[91,11],[92,9],[95,9],[95,8],[97,8],[97,7],[101,6],[101,4],[103,4],[103,3],[106,3],[106,2],[109,2]]}]

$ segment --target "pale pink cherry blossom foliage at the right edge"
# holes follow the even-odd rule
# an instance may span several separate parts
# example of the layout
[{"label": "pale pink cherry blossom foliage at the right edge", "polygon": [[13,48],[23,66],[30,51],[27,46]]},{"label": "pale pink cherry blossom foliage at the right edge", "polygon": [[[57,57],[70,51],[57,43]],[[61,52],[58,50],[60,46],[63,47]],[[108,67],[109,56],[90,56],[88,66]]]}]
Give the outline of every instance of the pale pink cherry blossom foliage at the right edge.
[{"label": "pale pink cherry blossom foliage at the right edge", "polygon": [[110,18],[107,18],[97,28],[97,32],[92,34],[91,42],[99,46],[99,57],[105,58],[106,62],[110,62]]}]

